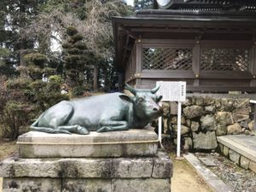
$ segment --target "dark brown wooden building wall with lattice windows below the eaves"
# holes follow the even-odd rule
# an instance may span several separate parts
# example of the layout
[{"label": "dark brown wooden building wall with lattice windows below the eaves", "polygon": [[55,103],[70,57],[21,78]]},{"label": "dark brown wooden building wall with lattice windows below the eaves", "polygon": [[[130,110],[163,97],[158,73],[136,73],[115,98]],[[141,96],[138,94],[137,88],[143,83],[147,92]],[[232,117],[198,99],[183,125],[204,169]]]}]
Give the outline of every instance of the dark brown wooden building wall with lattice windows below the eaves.
[{"label": "dark brown wooden building wall with lattice windows below the eaves", "polygon": [[[133,82],[135,87],[142,89],[154,87],[155,81],[166,80],[186,81],[189,91],[225,92],[239,90],[256,92],[256,41],[254,42],[251,37],[245,38],[243,35],[236,35],[234,39],[218,38],[218,36],[223,37],[218,34],[212,38],[212,35],[208,34],[205,35],[205,38],[200,39],[137,39],[125,66],[125,82]],[[182,65],[174,68],[172,66],[173,54],[166,57],[166,61],[169,60],[172,63],[169,69],[160,65],[160,62],[166,62],[164,59],[155,61],[160,66],[159,68],[150,68],[154,65],[154,63],[150,63],[150,60],[154,60],[155,55],[152,58],[149,55],[149,59],[145,60],[145,52],[148,49],[152,49],[152,51],[155,49],[172,50],[177,58],[180,57],[178,55],[180,54],[178,53],[179,49],[181,51],[191,49],[191,68],[189,67],[190,63],[188,63],[189,60],[186,61],[187,68],[183,69]],[[224,51],[227,51],[227,54]],[[222,55],[211,55],[211,53],[216,52],[222,53]],[[150,54],[150,51],[146,54]],[[234,54],[234,57],[231,54]],[[232,63],[231,60],[234,60],[235,64],[230,65],[229,68],[226,63]],[[145,67],[146,61],[151,66]],[[209,66],[210,62],[212,62],[212,67]],[[219,66],[216,66],[216,63]]]}]

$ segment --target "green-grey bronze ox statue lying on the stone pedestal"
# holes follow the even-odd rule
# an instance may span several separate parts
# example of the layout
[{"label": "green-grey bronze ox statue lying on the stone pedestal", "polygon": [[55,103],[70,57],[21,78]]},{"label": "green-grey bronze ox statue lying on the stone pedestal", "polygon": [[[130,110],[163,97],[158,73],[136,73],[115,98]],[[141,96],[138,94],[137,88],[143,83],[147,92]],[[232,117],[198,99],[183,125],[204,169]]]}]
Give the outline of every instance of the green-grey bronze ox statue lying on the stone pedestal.
[{"label": "green-grey bronze ox statue lying on the stone pedestal", "polygon": [[143,128],[163,112],[157,104],[162,96],[155,95],[159,88],[137,90],[125,84],[125,90],[129,90],[134,96],[111,93],[59,102],[42,113],[31,125],[31,129],[48,133],[87,135],[90,131]]}]

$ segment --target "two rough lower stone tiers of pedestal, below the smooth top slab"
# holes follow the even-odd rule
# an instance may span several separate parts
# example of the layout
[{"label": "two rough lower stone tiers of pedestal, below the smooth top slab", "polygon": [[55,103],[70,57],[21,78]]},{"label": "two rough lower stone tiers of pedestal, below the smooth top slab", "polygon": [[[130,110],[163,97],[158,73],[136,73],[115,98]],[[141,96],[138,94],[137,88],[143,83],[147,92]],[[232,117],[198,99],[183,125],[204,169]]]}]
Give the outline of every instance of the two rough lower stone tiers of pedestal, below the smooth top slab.
[{"label": "two rough lower stone tiers of pedestal, below the smooth top slab", "polygon": [[170,192],[172,160],[154,157],[9,158],[0,163],[3,192]]}]

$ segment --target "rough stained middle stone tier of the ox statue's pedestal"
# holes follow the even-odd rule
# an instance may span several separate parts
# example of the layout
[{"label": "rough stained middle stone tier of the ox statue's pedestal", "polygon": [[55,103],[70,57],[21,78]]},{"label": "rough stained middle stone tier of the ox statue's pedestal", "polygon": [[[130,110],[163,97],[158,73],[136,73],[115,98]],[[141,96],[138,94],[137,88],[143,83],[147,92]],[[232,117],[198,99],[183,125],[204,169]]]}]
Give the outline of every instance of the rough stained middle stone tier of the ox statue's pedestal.
[{"label": "rough stained middle stone tier of the ox statue's pedestal", "polygon": [[0,177],[165,178],[172,177],[172,160],[162,151],[141,158],[9,158],[0,164]]}]

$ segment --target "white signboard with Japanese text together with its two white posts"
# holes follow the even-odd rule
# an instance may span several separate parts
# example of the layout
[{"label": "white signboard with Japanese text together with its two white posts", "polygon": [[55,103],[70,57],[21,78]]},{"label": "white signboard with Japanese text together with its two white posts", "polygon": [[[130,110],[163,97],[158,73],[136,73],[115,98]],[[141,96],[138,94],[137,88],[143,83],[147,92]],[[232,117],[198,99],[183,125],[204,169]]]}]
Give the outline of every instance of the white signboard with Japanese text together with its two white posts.
[{"label": "white signboard with Japanese text together with its two white posts", "polygon": [[[156,85],[160,85],[158,94],[163,96],[162,101],[177,102],[177,157],[180,157],[181,143],[181,102],[186,100],[186,82],[183,81],[157,81]],[[162,119],[159,118],[158,137],[161,145]]]}]

